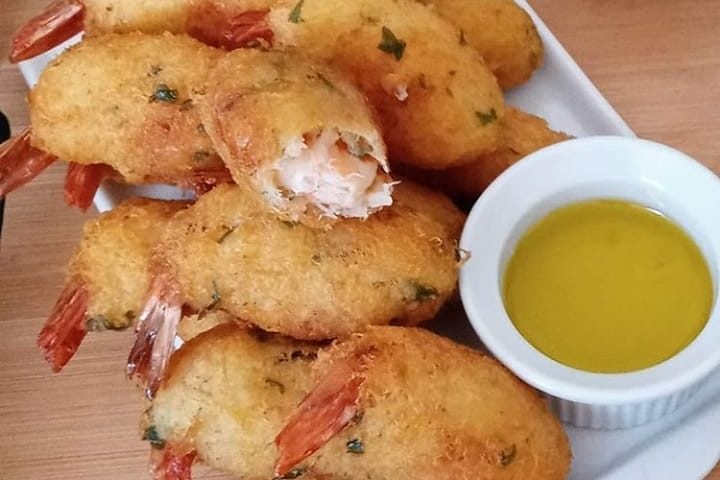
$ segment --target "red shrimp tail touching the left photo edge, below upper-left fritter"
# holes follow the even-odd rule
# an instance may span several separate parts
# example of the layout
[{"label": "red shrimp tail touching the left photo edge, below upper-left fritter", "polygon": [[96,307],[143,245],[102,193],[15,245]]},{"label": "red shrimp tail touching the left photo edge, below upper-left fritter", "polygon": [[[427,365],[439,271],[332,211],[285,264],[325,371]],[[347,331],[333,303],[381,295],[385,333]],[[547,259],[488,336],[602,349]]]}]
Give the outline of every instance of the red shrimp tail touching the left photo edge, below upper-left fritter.
[{"label": "red shrimp tail touching the left photo edge, below upper-left fritter", "polygon": [[30,145],[30,128],[0,145],[0,197],[40,175],[57,157]]}]

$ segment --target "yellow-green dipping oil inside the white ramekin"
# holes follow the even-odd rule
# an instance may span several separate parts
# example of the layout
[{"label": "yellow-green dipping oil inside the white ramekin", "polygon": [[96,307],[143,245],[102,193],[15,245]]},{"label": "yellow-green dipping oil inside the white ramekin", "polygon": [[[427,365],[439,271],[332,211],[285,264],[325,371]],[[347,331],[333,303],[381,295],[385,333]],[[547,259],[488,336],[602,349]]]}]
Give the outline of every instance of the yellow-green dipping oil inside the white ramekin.
[{"label": "yellow-green dipping oil inside the white ramekin", "polygon": [[700,249],[654,210],[616,200],[559,208],[531,227],[505,269],[505,309],[545,355],[589,372],[660,363],[708,320]]}]

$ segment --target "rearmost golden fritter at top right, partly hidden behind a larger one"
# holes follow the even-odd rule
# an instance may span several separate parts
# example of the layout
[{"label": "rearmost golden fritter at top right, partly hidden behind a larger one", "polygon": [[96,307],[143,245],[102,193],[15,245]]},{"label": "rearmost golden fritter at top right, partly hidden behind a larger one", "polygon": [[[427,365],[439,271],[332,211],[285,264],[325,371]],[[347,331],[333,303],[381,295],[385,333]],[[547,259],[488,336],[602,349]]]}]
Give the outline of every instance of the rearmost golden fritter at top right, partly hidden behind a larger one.
[{"label": "rearmost golden fritter at top right, partly hidden behind a larger one", "polygon": [[544,48],[530,15],[513,0],[418,0],[457,26],[503,89],[526,82]]}]

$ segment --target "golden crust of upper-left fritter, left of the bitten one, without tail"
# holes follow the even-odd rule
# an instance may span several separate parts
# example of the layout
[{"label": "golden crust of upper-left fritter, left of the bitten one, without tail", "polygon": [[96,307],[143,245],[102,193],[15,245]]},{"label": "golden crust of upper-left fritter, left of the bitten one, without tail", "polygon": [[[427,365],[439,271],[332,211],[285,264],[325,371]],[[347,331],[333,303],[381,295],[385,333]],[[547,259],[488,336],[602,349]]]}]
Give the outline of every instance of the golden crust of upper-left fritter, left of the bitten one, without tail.
[{"label": "golden crust of upper-left fritter, left of the bitten one, without tail", "polygon": [[88,38],[30,92],[32,143],[66,161],[105,163],[132,183],[181,183],[221,167],[190,101],[220,52],[185,36]]}]

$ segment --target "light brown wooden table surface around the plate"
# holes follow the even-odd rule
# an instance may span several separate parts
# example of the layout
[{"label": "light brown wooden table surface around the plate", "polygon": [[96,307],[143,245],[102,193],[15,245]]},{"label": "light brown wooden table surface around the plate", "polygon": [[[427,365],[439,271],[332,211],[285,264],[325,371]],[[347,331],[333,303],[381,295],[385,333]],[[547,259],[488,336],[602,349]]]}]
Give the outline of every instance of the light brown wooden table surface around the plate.
[{"label": "light brown wooden table surface around the plate", "polygon": [[[26,88],[5,60],[6,46],[15,28],[47,2],[2,2],[0,110],[16,132],[28,122]],[[532,3],[639,136],[720,172],[717,0]],[[149,478],[148,446],[138,438],[139,395],[122,371],[132,333],[89,335],[60,375],[50,373],[35,347],[82,223],[95,214],[64,206],[63,176],[63,167],[53,166],[7,200],[0,250],[0,477]],[[196,474],[211,477],[220,478]],[[707,478],[720,480],[720,467]]]}]

